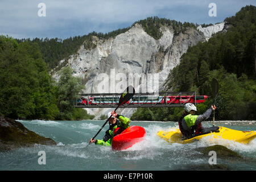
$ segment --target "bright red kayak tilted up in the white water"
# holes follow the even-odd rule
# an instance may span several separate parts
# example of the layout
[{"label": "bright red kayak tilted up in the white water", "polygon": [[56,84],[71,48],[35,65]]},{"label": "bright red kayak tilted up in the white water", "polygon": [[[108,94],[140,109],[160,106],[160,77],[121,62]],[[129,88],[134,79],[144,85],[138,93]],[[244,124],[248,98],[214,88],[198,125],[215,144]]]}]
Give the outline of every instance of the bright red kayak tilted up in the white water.
[{"label": "bright red kayak tilted up in the white water", "polygon": [[130,126],[112,140],[112,150],[125,150],[135,143],[141,142],[146,135],[141,126]]}]

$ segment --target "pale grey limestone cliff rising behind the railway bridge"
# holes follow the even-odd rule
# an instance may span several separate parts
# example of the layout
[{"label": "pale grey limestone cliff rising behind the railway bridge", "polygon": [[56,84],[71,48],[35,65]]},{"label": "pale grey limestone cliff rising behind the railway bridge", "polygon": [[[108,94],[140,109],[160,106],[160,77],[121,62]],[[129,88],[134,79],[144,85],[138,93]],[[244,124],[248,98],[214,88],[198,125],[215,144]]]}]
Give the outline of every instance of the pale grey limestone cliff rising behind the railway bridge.
[{"label": "pale grey limestone cliff rising behind the railway bridge", "polygon": [[[188,47],[207,41],[223,28],[224,23],[205,28],[187,27],[185,32],[175,35],[172,28],[162,26],[160,28],[162,36],[155,40],[143,30],[141,24],[136,23],[115,38],[101,40],[94,36],[92,42],[95,47],[85,49],[83,44],[75,55],[70,56],[67,64],[75,70],[75,76],[84,78],[86,82],[84,93],[99,93],[97,76],[100,73],[110,76],[110,69],[114,69],[115,74],[125,73],[127,77],[129,74],[158,73],[159,91],[161,91],[171,69],[180,63],[180,57]],[[60,61],[63,62],[64,60]],[[53,77],[57,79],[56,73]],[[135,88],[135,92],[139,92],[138,88]],[[87,110],[88,113],[97,115],[96,119],[110,111],[110,109]],[[120,109],[120,111],[121,114],[126,113],[130,116],[134,109]]]}]

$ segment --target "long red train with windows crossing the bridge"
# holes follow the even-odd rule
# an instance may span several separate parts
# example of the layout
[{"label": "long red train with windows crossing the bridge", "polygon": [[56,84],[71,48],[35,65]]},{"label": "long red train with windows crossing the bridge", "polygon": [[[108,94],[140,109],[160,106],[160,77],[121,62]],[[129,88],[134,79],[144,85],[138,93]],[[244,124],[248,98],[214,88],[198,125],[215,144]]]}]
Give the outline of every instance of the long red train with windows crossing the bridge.
[{"label": "long red train with windows crossing the bridge", "polygon": [[[196,104],[204,102],[208,96],[196,96]],[[96,105],[96,104],[118,104],[118,97],[89,97],[77,100],[77,105]],[[194,103],[195,96],[135,96],[131,100],[127,101],[126,104],[184,104]]]}]

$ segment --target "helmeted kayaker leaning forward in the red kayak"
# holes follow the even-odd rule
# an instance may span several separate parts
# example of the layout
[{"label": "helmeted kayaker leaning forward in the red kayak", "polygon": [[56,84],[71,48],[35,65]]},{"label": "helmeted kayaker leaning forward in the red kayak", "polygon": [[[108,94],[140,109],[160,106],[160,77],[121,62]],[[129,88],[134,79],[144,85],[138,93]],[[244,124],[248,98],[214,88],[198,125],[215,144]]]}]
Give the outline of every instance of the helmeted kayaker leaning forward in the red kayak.
[{"label": "helmeted kayaker leaning forward in the red kayak", "polygon": [[130,119],[115,113],[115,111],[109,112],[109,129],[106,131],[106,134],[102,140],[99,139],[90,139],[89,143],[100,144],[102,146],[111,146],[112,140],[115,135],[120,134],[123,130],[127,129],[130,126]]}]

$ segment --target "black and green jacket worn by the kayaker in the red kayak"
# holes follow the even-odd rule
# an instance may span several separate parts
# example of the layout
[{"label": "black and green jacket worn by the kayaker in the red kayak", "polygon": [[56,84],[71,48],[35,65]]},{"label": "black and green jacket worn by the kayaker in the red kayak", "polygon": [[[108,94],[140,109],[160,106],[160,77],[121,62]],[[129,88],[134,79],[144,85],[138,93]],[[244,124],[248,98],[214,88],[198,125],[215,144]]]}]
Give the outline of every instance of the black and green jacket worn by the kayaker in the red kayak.
[{"label": "black and green jacket worn by the kayaker in the red kayak", "polygon": [[[119,119],[119,120],[118,120]],[[95,144],[100,144],[102,146],[111,146],[112,140],[114,138],[114,130],[117,127],[122,129],[127,129],[130,126],[130,119],[124,117],[123,115],[117,115],[117,121],[112,125],[109,124],[109,129],[106,131],[106,134],[102,140],[96,139]]]}]

